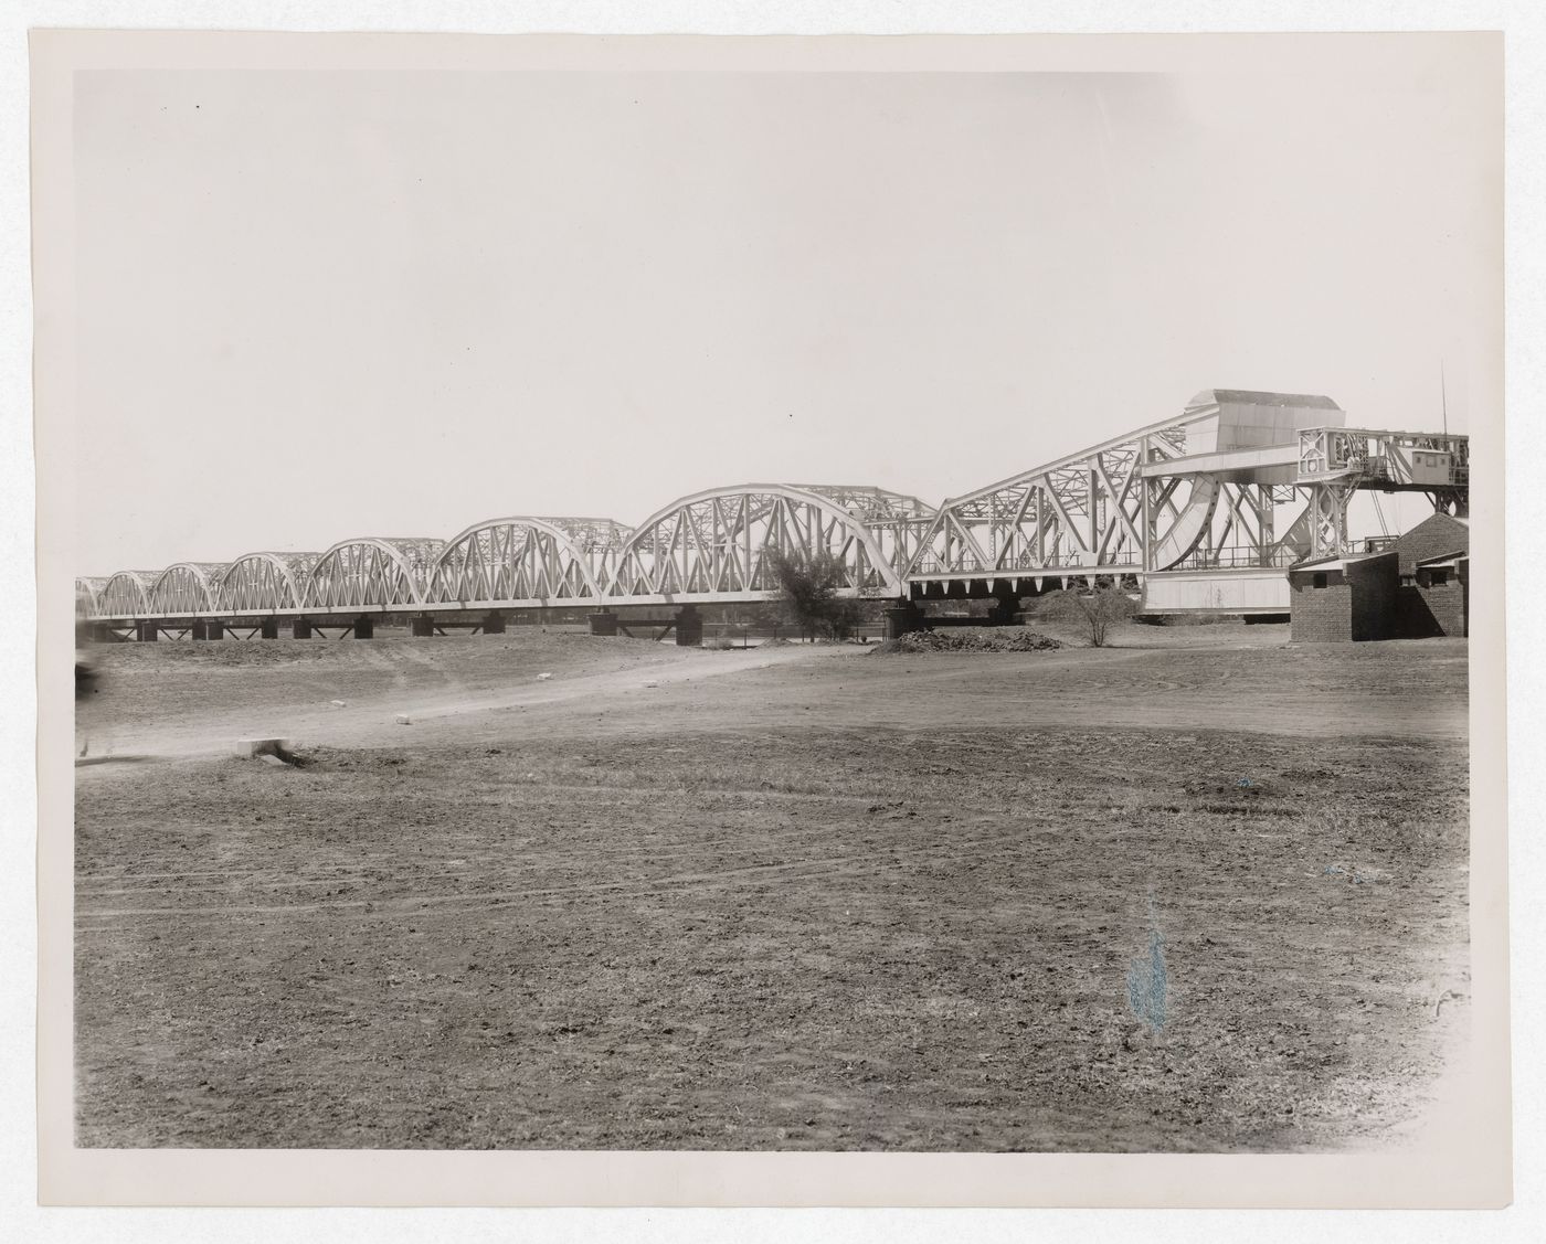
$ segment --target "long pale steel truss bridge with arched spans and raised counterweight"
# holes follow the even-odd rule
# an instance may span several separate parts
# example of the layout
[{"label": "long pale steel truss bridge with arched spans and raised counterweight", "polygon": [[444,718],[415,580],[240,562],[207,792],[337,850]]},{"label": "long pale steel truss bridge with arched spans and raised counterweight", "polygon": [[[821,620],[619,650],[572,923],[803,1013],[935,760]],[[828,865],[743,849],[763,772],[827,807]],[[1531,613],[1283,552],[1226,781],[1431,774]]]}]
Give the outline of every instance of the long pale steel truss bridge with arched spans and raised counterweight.
[{"label": "long pale steel truss bridge with arched spans and raised counterweight", "polygon": [[1464,436],[1347,428],[1326,397],[1206,389],[1173,419],[938,507],[875,487],[744,484],[635,527],[518,515],[450,539],[119,570],[76,580],[76,614],[99,638],[277,635],[281,618],[297,635],[366,637],[380,615],[410,615],[416,634],[434,620],[493,630],[518,610],[767,601],[775,553],[835,558],[843,595],[898,607],[1116,581],[1149,612],[1286,612],[1288,566],[1356,552],[1359,490],[1421,491],[1466,516],[1469,476]]}]

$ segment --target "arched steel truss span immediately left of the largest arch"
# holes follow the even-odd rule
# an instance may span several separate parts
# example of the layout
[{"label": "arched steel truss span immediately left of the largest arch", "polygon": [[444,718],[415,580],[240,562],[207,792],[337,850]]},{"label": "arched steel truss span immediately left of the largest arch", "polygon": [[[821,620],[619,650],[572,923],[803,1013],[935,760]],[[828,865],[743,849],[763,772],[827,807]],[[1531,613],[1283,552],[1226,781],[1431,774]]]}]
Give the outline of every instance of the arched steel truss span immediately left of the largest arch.
[{"label": "arched steel truss span immediately left of the largest arch", "polygon": [[609,518],[495,518],[475,524],[430,566],[431,604],[595,604],[628,529]]}]

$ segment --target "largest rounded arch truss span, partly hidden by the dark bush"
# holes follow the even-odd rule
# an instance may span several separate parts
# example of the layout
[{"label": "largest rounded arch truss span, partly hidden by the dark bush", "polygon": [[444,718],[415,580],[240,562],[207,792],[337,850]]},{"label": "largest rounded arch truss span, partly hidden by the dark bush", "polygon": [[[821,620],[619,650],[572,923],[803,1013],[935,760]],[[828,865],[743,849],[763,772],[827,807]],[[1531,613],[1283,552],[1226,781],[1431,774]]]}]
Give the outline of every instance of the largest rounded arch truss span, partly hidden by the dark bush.
[{"label": "largest rounded arch truss span, partly hidden by the dark bush", "polygon": [[682,498],[634,529],[606,587],[608,603],[767,600],[773,552],[843,561],[850,597],[901,595],[877,535],[836,501],[788,484],[745,484]]}]

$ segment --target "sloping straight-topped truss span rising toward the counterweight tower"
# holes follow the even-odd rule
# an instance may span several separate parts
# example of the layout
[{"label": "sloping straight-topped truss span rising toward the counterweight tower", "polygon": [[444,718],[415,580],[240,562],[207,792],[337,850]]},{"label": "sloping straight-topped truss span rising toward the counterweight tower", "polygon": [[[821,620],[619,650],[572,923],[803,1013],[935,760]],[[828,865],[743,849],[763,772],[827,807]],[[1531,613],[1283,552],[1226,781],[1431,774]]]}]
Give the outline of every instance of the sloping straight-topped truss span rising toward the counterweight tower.
[{"label": "sloping straight-topped truss span rising toward the counterweight tower", "polygon": [[1206,474],[1150,481],[1142,468],[1212,448],[1217,419],[1217,405],[1194,403],[1169,422],[946,501],[908,563],[908,575],[1121,573],[1184,561],[1209,533],[1217,481]]}]

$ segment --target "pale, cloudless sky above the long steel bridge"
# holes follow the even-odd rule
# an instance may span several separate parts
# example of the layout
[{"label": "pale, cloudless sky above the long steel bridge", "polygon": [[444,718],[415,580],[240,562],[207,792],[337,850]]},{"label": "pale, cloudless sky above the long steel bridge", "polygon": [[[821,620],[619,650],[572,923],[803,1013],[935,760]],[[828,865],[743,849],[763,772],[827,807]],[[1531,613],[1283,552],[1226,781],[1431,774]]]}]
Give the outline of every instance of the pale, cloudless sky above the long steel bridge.
[{"label": "pale, cloudless sky above the long steel bridge", "polygon": [[97,70],[74,104],[80,573],[742,482],[937,504],[1215,386],[1467,431],[1501,368],[1461,65]]}]

